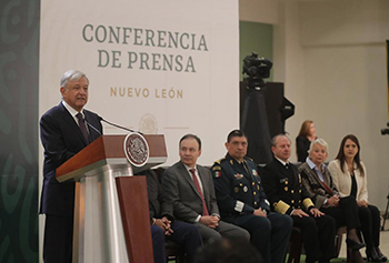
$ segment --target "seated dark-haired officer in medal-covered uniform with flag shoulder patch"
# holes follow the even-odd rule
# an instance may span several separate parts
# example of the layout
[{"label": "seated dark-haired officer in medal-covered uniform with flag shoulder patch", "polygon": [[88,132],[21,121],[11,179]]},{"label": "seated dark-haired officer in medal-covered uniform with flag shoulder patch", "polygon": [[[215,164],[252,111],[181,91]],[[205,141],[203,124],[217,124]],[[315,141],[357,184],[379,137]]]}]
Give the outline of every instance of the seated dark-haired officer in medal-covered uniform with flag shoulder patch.
[{"label": "seated dark-haired officer in medal-covered uniform with flag shoulder patch", "polygon": [[226,158],[212,166],[221,219],[246,229],[251,243],[267,263],[285,260],[292,220],[270,212],[256,163],[246,158],[247,138],[240,130],[229,133]]}]

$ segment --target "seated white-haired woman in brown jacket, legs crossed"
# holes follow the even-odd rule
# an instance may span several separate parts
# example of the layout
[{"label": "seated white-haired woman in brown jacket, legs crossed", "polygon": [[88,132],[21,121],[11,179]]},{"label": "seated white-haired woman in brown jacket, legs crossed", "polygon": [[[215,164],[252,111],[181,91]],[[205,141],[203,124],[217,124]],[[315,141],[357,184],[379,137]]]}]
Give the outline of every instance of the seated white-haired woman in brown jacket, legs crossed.
[{"label": "seated white-haired woman in brown jacket, legs crossed", "polygon": [[302,184],[315,205],[323,213],[332,216],[338,227],[347,226],[347,247],[353,251],[352,257],[357,262],[363,262],[359,250],[365,246],[360,242],[357,229],[360,226],[358,219],[358,205],[352,196],[340,198],[332,181],[331,174],[326,168],[328,144],[322,139],[316,139],[309,148],[307,162],[299,166]]}]

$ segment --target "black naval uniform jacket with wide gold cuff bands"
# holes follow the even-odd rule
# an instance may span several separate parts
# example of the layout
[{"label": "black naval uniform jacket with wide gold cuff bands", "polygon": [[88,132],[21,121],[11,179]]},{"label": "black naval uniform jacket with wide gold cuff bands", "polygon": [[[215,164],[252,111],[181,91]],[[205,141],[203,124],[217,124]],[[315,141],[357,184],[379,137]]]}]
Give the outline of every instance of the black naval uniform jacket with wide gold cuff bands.
[{"label": "black naval uniform jacket with wide gold cuff bands", "polygon": [[280,161],[273,159],[263,169],[262,184],[271,209],[282,214],[290,214],[293,209],[315,208],[302,186],[297,168],[291,163],[286,168]]}]

